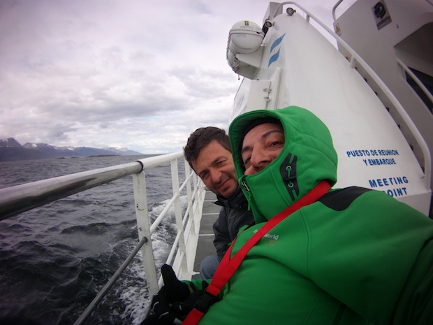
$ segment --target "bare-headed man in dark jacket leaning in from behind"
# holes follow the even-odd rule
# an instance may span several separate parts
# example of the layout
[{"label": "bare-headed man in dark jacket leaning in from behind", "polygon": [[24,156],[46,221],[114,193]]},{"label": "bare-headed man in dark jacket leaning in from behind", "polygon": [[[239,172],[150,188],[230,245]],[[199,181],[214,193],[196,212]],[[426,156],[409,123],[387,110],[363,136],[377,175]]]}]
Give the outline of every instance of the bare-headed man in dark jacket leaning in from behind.
[{"label": "bare-headed man in dark jacket leaning in from behind", "polygon": [[189,136],[184,155],[207,188],[217,194],[215,203],[222,206],[214,223],[217,255],[206,257],[200,265],[200,277],[210,279],[240,227],[250,224],[253,215],[247,211],[247,199],[238,186],[230,141],[223,129],[197,129]]}]

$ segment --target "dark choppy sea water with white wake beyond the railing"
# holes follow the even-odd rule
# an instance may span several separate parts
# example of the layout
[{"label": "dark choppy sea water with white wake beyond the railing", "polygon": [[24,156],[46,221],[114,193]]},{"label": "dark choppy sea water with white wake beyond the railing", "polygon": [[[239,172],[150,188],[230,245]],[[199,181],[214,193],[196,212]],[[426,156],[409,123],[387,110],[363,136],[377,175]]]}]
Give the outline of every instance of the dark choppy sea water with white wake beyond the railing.
[{"label": "dark choppy sea water with white wake beyond the railing", "polygon": [[[2,162],[0,188],[145,157]],[[152,221],[173,195],[170,173],[169,164],[146,172]],[[174,238],[171,211],[152,235],[157,268]],[[137,243],[132,176],[0,221],[0,324],[73,324]],[[140,324],[148,303],[139,253],[85,324]]]}]

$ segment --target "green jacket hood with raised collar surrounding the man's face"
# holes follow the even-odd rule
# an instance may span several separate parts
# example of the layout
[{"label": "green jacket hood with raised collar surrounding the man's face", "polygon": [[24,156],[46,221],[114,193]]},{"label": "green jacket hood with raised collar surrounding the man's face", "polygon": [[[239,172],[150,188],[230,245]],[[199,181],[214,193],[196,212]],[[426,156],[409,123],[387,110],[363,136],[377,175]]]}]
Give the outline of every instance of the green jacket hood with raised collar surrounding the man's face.
[{"label": "green jacket hood with raised collar surrounding the man's face", "polygon": [[[250,124],[272,117],[284,129],[285,144],[272,163],[254,175],[244,175],[240,150]],[[256,222],[265,222],[298,201],[321,180],[337,182],[337,152],[330,131],[309,110],[289,106],[254,110],[233,120],[229,129],[237,178]]]}]

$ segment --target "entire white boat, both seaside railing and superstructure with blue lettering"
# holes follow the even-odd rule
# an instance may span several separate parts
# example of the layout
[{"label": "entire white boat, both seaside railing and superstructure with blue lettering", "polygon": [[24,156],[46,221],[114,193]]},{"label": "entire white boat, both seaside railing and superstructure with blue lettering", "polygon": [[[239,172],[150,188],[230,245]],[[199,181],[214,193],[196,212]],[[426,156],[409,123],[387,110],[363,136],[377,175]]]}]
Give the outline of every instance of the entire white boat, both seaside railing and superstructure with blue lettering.
[{"label": "entire white boat, both seaside railing and superstructure with blue lettering", "polygon": [[[338,13],[340,3],[332,9],[335,30],[293,1],[271,2],[263,27],[248,20],[233,26],[227,59],[244,79],[230,120],[249,110],[307,108],[332,133],[339,154],[335,187],[381,190],[432,217],[433,2],[358,0]],[[167,263],[181,279],[196,274],[205,189],[188,164],[179,185],[177,159],[182,157],[177,152],[0,189],[1,219],[133,175],[139,243],[112,281],[141,251],[152,295],[161,279],[156,278],[149,239],[168,208],[149,224],[145,173],[167,161],[173,180],[170,205],[175,206],[179,232]],[[182,215],[179,193],[184,189],[189,204]],[[76,325],[85,322],[111,285]]]}]

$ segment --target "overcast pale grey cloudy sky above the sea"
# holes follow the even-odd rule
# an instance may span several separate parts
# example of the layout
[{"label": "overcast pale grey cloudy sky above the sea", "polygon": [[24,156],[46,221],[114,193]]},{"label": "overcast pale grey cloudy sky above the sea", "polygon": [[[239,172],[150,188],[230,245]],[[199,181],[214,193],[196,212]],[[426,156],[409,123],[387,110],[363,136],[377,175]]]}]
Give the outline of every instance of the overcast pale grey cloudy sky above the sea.
[{"label": "overcast pale grey cloudy sky above the sea", "polygon": [[[337,0],[302,6],[332,27]],[[240,85],[228,31],[260,26],[265,0],[1,0],[0,139],[182,150],[228,129]]]}]

